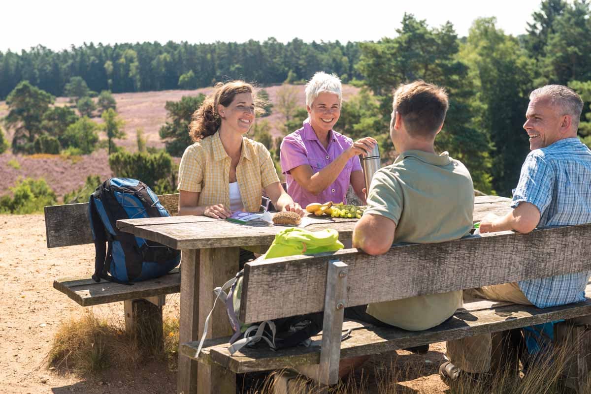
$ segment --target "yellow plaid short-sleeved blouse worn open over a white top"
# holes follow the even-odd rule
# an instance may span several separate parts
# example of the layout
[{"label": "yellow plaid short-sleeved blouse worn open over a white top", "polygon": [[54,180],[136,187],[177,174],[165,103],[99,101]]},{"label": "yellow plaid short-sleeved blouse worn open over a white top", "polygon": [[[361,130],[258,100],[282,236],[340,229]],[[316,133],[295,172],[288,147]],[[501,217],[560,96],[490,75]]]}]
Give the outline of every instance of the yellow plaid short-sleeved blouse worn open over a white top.
[{"label": "yellow plaid short-sleeved blouse worn open over a white top", "polygon": [[[222,203],[229,207],[230,161],[219,132],[188,146],[178,168],[178,190],[199,192],[199,205]],[[236,179],[245,211],[257,212],[262,189],[279,182],[271,154],[264,145],[242,137]]]}]

